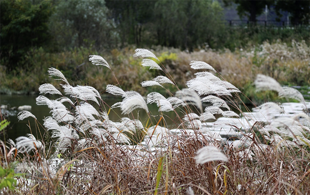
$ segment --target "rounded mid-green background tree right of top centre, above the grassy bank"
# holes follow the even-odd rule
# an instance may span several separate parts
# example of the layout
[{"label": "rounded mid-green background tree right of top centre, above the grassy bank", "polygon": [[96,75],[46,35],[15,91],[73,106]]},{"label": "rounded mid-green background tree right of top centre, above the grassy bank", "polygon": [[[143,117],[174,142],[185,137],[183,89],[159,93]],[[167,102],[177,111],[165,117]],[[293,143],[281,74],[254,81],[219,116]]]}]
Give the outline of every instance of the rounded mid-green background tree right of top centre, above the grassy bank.
[{"label": "rounded mid-green background tree right of top centre, above the grassy bank", "polygon": [[160,45],[192,50],[210,44],[223,27],[222,8],[216,0],[158,0],[154,13]]}]

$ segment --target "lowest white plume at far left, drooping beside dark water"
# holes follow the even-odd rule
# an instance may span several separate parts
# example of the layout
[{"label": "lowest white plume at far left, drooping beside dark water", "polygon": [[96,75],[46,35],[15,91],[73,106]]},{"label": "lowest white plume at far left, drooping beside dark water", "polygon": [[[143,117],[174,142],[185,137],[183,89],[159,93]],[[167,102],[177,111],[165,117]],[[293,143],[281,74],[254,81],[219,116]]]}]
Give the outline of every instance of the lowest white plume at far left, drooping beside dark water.
[{"label": "lowest white plume at far left, drooping beside dark water", "polygon": [[16,148],[19,152],[31,152],[32,150],[39,149],[43,145],[40,141],[36,140],[31,134],[27,134],[27,137],[21,136],[16,139]]}]

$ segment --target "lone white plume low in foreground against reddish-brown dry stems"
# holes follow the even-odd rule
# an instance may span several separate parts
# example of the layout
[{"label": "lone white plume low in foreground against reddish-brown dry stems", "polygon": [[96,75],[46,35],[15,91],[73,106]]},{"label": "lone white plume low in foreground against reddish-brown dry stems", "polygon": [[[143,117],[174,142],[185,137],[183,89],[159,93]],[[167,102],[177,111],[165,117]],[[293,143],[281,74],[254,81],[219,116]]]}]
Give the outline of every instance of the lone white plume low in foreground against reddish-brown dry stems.
[{"label": "lone white plume low in foreground against reddish-brown dry stems", "polygon": [[228,161],[228,158],[219,151],[215,146],[204,146],[197,151],[197,156],[195,156],[197,164],[204,164],[210,161]]}]

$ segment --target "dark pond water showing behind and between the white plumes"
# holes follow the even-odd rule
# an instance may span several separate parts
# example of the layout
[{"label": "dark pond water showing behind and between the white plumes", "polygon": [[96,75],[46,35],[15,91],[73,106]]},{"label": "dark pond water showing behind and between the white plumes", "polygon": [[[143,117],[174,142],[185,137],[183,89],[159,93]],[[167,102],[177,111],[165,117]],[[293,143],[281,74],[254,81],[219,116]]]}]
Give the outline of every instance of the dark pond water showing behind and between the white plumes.
[{"label": "dark pond water showing behind and between the white plumes", "polygon": [[[36,116],[38,122],[43,125],[43,119],[44,117],[48,117],[50,116],[50,109],[47,106],[38,106],[36,105],[36,97],[38,95],[34,95],[34,96],[23,96],[23,95],[0,95],[0,105],[7,105],[8,108],[13,108],[13,107],[18,107],[18,106],[22,106],[22,105],[30,105],[32,106],[30,112]],[[49,96],[48,98],[50,99],[56,99],[59,97],[53,97],[53,96]],[[122,99],[120,98],[103,98],[103,100],[109,105],[113,105],[114,103],[121,101]],[[160,117],[158,117],[158,108],[156,106],[156,104],[150,104],[148,105],[148,108],[150,110],[150,112],[152,113],[151,117],[152,118],[152,123],[153,125],[156,125],[156,121],[159,120]],[[109,107],[107,107],[107,110],[109,110]],[[3,132],[0,132],[0,139],[4,140],[4,136],[5,139],[7,140],[8,138],[11,138],[13,140],[15,140],[17,137],[19,136],[25,136],[28,133],[33,133],[34,135],[38,135],[40,132],[41,134],[44,133],[44,129],[39,126],[39,129],[36,128],[36,123],[35,123],[35,119],[34,118],[26,118],[22,121],[18,121],[17,118],[17,114],[18,114],[18,110],[17,109],[1,109],[2,112],[2,116],[6,119],[8,119],[10,121],[10,125],[9,127],[5,130],[5,135],[3,135]],[[139,118],[144,125],[146,125],[147,123],[147,115],[146,112],[143,110],[138,110],[137,112],[133,112],[133,115],[130,116],[124,116],[121,114],[120,109],[113,109],[110,111],[109,113],[109,119],[112,121],[118,121],[120,120],[121,117],[130,117],[131,119],[133,118]],[[176,113],[174,112],[166,112],[164,113],[165,119],[166,119],[166,124],[173,124],[174,120],[177,118],[176,117]],[[183,116],[181,114],[181,116]],[[171,119],[169,119],[171,118]],[[150,124],[150,121],[148,121],[148,124]],[[164,124],[161,124],[164,125]],[[29,126],[31,128],[29,128]],[[39,132],[39,131],[40,132]]]}]

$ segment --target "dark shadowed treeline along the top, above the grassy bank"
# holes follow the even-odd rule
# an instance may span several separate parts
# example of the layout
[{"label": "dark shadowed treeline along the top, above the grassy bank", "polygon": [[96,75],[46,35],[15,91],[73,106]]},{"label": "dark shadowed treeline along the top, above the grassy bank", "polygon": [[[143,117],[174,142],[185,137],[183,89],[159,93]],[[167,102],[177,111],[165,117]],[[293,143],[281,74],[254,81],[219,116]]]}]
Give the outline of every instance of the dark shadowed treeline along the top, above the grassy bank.
[{"label": "dark shadowed treeline along the top, above the grassy bank", "polygon": [[[232,2],[254,24],[265,5],[272,5],[279,17],[289,12],[295,26],[225,25],[223,7]],[[29,71],[39,48],[46,53],[103,52],[161,45],[193,51],[235,50],[277,39],[308,43],[309,9],[307,0],[0,0],[0,66],[15,74],[18,68]]]}]

